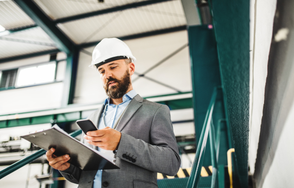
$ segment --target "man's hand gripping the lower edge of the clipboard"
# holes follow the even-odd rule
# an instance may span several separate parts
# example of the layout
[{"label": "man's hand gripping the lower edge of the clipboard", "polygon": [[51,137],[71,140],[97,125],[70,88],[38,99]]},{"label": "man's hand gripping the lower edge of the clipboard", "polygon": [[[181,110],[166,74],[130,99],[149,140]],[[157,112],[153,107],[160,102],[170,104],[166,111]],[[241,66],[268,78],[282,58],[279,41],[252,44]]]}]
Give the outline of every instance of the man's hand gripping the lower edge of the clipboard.
[{"label": "man's hand gripping the lower edge of the clipboard", "polygon": [[54,151],[55,149],[51,148],[49,149],[49,151],[46,152],[46,157],[47,157],[47,160],[49,161],[49,165],[55,168],[56,170],[63,171],[68,169],[71,165],[67,162],[68,160],[70,160],[70,156],[63,155],[63,156],[56,157],[56,155],[53,154]]}]

